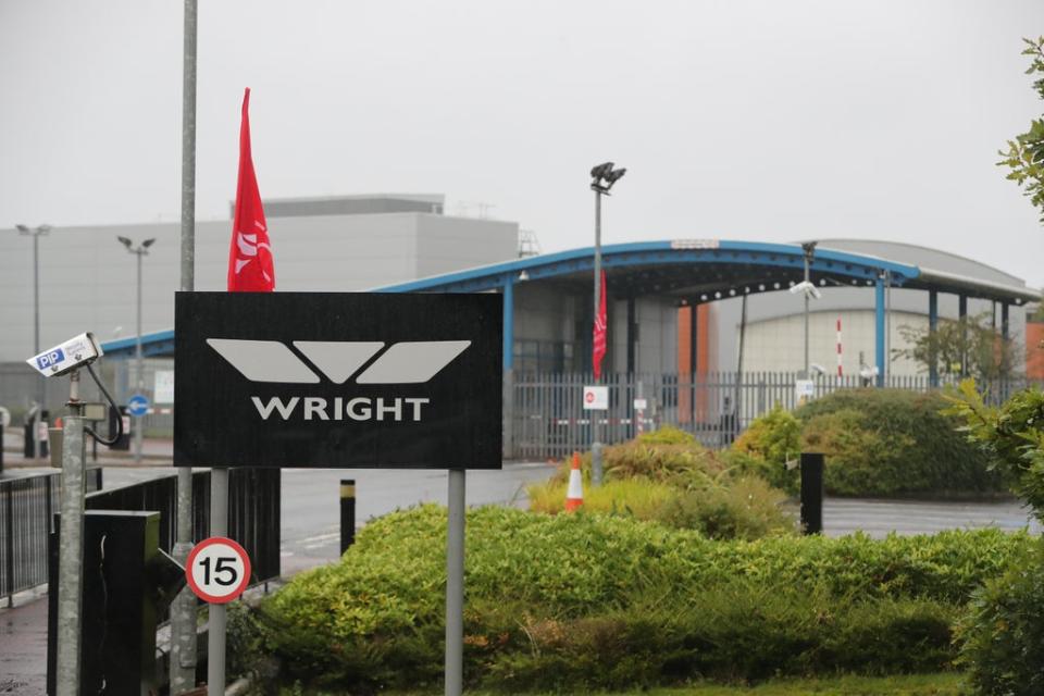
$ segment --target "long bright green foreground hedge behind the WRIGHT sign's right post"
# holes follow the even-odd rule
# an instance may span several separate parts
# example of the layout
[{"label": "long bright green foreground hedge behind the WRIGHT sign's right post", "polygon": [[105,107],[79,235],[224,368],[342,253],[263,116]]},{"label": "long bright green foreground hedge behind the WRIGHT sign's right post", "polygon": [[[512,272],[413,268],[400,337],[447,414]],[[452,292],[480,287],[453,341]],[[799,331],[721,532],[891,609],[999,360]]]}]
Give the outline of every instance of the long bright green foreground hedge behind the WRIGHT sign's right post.
[{"label": "long bright green foreground hedge behind the WRIGHT sign's right post", "polygon": [[[254,617],[290,680],[359,689],[442,673],[445,510],[369,524]],[[588,689],[695,676],[905,672],[953,658],[957,607],[1024,534],[711,542],[605,515],[469,511],[470,684]]]}]

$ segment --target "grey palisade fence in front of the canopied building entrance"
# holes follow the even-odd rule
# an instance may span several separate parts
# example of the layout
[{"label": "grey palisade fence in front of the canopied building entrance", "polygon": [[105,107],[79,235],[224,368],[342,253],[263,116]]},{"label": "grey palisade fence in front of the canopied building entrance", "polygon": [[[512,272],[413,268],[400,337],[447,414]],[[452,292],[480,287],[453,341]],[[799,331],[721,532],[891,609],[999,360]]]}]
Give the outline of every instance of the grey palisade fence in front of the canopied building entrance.
[{"label": "grey palisade fence in front of the canopied building entrance", "polygon": [[[599,442],[611,444],[663,424],[692,433],[708,447],[723,447],[776,403],[795,408],[797,381],[794,372],[608,375],[600,384],[609,388],[609,410],[588,411],[582,399],[584,385],[594,384],[589,373],[515,374],[506,403],[511,420],[506,451],[513,458],[560,459],[589,448],[596,426]],[[933,386],[928,376],[892,375],[885,386],[928,391],[954,382]],[[861,386],[869,385],[859,375],[821,375],[813,381],[813,398]],[[986,385],[985,393],[999,401],[1024,386],[1024,380],[1009,380]],[[635,399],[647,407],[636,409]]]}]

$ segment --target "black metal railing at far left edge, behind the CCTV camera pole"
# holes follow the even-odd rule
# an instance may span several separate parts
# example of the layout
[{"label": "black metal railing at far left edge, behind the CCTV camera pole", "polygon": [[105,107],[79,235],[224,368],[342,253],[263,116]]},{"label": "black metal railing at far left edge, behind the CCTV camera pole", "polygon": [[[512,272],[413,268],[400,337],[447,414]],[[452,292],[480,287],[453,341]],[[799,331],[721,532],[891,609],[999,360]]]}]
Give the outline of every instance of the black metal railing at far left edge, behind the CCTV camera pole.
[{"label": "black metal railing at far left edge, behind the CCTV camera pole", "polygon": [[[87,490],[101,487],[101,469],[88,469]],[[60,473],[0,481],[0,597],[47,583],[47,537],[60,509]]]}]

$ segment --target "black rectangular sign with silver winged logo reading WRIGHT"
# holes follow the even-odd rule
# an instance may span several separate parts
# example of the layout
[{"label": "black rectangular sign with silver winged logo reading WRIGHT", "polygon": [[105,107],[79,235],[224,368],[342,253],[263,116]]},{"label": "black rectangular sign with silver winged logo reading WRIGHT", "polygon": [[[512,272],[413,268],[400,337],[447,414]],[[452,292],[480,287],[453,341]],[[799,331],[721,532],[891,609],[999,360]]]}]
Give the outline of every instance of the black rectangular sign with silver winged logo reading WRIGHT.
[{"label": "black rectangular sign with silver winged logo reading WRIGHT", "polygon": [[178,293],[174,464],[499,469],[497,295]]}]

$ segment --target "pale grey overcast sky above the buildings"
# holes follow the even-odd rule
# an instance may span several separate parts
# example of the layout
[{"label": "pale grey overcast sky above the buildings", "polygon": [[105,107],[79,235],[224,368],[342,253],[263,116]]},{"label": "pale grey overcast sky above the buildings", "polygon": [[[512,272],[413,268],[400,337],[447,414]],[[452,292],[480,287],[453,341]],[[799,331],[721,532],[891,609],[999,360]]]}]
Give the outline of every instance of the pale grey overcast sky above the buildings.
[{"label": "pale grey overcast sky above the buildings", "polygon": [[[178,219],[182,32],[179,0],[0,0],[0,227]],[[200,0],[197,215],[228,214],[249,86],[264,197],[445,192],[552,251],[592,244],[611,159],[607,243],[898,240],[1040,287],[995,166],[1040,34],[1041,0]]]}]

